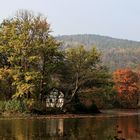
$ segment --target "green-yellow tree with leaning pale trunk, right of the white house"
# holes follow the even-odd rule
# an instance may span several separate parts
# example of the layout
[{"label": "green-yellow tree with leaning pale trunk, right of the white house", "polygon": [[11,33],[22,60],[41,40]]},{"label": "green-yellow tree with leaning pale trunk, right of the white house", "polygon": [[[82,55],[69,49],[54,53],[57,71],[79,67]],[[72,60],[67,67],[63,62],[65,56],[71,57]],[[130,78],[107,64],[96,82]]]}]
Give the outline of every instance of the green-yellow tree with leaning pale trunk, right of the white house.
[{"label": "green-yellow tree with leaning pale trunk, right of the white house", "polygon": [[[86,50],[83,45],[65,51],[61,68],[61,88],[65,92],[65,104],[79,102],[79,93],[109,85],[109,74],[100,61],[101,54],[95,47]],[[97,91],[97,90],[96,90]],[[100,90],[101,91],[101,90]]]}]

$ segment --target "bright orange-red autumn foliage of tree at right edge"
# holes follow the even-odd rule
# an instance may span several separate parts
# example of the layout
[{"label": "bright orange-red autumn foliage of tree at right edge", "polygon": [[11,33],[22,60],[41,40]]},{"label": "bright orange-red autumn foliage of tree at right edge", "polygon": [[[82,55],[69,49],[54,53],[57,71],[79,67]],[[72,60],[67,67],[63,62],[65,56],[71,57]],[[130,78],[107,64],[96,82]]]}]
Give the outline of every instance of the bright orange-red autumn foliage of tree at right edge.
[{"label": "bright orange-red autumn foliage of tree at right edge", "polygon": [[138,74],[130,69],[120,69],[113,73],[115,89],[120,96],[130,98],[138,92]]}]

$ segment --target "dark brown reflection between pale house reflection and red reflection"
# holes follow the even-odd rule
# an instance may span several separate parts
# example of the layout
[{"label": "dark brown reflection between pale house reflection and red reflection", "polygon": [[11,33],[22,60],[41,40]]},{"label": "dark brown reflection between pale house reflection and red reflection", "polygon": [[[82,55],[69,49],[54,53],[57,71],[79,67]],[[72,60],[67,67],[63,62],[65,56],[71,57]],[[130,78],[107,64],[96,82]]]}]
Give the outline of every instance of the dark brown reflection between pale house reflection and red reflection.
[{"label": "dark brown reflection between pale house reflection and red reflection", "polygon": [[103,140],[108,136],[106,130],[112,128],[114,122],[109,118],[73,119],[71,121],[67,120],[67,122],[65,120],[65,128],[67,129],[65,131],[71,132],[71,134],[69,133],[70,139]]}]

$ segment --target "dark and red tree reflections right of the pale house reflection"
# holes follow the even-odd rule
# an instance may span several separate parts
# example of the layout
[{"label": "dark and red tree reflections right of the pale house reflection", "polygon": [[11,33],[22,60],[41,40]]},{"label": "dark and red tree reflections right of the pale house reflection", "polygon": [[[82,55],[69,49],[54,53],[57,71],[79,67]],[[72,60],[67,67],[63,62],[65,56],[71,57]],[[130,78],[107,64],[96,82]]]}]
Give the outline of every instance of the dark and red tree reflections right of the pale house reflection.
[{"label": "dark and red tree reflections right of the pale house reflection", "polygon": [[[65,120],[65,132],[73,139],[106,140],[108,137],[120,136],[126,139],[140,139],[138,117],[97,117],[89,119]],[[121,124],[121,125],[120,125]],[[69,126],[69,127],[67,127]],[[122,129],[120,129],[120,127]],[[122,134],[117,134],[122,130]],[[65,133],[64,132],[64,133]]]}]

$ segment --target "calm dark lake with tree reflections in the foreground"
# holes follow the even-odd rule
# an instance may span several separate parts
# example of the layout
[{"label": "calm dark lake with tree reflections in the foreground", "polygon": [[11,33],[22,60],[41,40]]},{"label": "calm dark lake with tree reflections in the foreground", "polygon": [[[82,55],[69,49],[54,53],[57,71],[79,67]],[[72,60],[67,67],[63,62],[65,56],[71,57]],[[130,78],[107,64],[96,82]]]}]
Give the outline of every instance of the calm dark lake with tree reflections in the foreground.
[{"label": "calm dark lake with tree reflections in the foreground", "polygon": [[0,118],[0,140],[140,140],[140,111],[84,118]]}]

